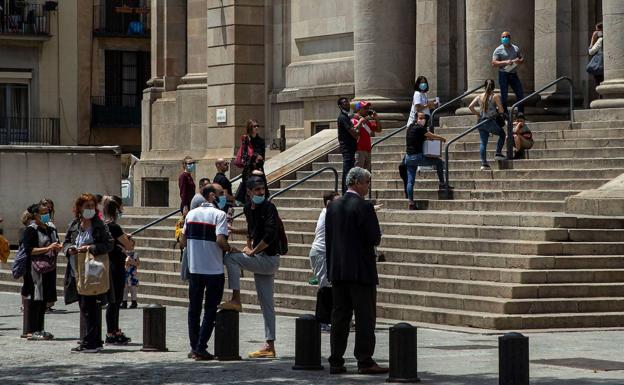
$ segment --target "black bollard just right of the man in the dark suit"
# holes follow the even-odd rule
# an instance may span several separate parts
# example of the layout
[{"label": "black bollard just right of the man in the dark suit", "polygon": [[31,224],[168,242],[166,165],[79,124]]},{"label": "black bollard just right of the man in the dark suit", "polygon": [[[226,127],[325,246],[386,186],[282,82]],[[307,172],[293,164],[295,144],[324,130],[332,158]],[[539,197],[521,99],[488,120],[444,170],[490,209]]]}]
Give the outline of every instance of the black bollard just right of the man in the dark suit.
[{"label": "black bollard just right of the man in the dark suit", "polygon": [[390,373],[386,382],[419,382],[416,327],[401,322],[390,328]]}]

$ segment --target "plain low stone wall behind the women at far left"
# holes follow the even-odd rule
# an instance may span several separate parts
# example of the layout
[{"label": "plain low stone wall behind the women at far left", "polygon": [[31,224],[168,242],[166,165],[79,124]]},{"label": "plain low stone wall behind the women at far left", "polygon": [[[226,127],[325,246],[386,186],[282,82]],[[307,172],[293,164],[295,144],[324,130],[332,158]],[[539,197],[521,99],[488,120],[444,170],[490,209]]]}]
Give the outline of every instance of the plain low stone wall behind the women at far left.
[{"label": "plain low stone wall behind the women at far left", "polygon": [[119,147],[1,146],[0,217],[11,244],[18,242],[24,210],[43,198],[54,201],[55,223],[65,232],[74,199],[83,192],[121,192]]}]

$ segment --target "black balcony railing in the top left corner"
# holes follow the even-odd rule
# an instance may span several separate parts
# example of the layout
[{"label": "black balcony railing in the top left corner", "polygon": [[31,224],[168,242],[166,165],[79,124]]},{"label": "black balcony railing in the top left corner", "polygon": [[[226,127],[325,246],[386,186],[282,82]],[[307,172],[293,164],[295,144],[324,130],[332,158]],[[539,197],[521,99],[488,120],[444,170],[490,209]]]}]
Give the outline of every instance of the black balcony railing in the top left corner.
[{"label": "black balcony railing in the top left corner", "polygon": [[24,4],[0,11],[0,35],[49,36],[49,6]]}]

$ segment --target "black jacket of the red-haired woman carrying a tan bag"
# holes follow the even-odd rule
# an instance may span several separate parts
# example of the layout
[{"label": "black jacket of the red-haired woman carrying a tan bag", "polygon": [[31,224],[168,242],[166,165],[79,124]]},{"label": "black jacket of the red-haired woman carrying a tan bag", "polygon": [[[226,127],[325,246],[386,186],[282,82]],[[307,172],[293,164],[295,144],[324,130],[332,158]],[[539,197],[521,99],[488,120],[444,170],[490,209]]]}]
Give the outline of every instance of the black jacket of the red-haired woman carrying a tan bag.
[{"label": "black jacket of the red-haired woman carrying a tan bag", "polygon": [[[94,244],[89,247],[89,252],[93,255],[107,254],[115,247],[115,240],[110,235],[108,227],[99,218],[95,217],[91,221],[93,227],[92,235]],[[78,229],[80,227],[80,220],[75,219],[69,224],[67,233],[65,233],[65,241],[63,242],[63,253],[67,256],[67,268],[65,269],[65,304],[78,301],[78,288],[76,287],[76,279],[71,275],[71,266],[69,265],[69,250],[70,247],[76,245],[76,237],[78,236]]]}]

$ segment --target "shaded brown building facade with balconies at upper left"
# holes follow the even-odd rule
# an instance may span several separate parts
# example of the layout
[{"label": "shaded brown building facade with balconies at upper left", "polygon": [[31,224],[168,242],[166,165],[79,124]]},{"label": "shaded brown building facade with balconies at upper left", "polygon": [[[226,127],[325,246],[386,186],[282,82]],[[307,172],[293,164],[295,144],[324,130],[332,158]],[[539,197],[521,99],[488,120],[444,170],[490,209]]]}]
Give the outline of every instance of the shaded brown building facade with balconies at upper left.
[{"label": "shaded brown building facade with balconies at upper left", "polygon": [[0,0],[0,144],[140,152],[146,0]]}]

